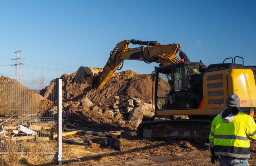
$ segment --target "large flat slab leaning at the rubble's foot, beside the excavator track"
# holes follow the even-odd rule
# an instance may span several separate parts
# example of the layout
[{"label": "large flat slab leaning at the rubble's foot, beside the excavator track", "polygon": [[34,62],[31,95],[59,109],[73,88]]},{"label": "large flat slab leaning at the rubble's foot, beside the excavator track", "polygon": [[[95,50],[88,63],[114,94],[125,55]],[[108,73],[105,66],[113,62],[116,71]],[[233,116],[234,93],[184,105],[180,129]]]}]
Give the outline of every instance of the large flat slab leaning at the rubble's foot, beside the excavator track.
[{"label": "large flat slab leaning at the rubble's foot, beside the excavator track", "polygon": [[141,124],[143,115],[145,111],[145,106],[142,104],[139,104],[137,108],[134,109],[133,116],[132,116],[132,121],[131,121],[131,127],[134,129],[137,129],[139,124]]}]

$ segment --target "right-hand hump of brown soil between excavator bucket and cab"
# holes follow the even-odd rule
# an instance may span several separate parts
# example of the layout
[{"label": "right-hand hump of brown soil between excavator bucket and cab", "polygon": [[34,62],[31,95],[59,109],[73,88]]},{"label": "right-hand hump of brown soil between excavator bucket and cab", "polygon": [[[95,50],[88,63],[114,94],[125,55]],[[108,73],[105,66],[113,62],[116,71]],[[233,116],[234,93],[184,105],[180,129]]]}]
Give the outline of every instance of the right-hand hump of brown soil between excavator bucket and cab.
[{"label": "right-hand hump of brown soil between excavator bucket and cab", "polygon": [[90,90],[86,96],[95,104],[109,105],[119,96],[121,101],[136,97],[146,102],[152,100],[152,81],[149,74],[127,70],[115,73],[101,90]]}]

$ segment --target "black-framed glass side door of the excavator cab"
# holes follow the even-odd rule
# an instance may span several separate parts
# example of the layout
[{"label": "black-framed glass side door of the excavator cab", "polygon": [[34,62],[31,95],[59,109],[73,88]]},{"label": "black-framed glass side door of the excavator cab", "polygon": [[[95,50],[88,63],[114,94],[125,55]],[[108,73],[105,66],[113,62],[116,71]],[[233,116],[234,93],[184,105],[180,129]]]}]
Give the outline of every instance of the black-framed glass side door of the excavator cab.
[{"label": "black-framed glass side door of the excavator cab", "polygon": [[172,69],[173,81],[173,103],[175,108],[193,108],[190,73],[186,65]]}]

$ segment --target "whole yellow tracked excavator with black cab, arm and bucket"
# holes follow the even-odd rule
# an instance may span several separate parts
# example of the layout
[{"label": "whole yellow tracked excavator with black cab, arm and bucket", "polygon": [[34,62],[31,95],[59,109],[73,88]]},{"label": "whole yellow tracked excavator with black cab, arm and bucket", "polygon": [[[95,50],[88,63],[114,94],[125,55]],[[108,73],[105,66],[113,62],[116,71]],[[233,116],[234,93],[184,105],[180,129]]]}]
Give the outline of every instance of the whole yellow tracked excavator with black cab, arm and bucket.
[{"label": "whole yellow tracked excavator with black cab, arm and bucket", "polygon": [[[129,48],[129,44],[140,45]],[[205,142],[212,117],[226,109],[226,97],[236,93],[243,110],[256,107],[256,66],[244,66],[242,57],[226,58],[223,63],[205,66],[191,62],[180,44],[163,45],[157,41],[124,40],[118,43],[102,68],[80,67],[74,81],[100,90],[124,60],[156,62],[152,73],[155,84],[156,116],[188,115],[187,120],[143,122],[137,134],[144,138],[188,139]],[[176,56],[179,53],[179,57]],[[243,64],[237,64],[241,58]],[[225,63],[231,59],[232,63]],[[152,105],[152,107],[153,107]]]}]

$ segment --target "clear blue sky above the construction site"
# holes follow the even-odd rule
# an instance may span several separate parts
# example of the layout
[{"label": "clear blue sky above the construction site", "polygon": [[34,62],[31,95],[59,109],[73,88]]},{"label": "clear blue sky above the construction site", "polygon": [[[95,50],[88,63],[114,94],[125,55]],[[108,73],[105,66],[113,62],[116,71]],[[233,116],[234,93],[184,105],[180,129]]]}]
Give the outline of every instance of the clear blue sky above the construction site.
[{"label": "clear blue sky above the construction site", "polygon": [[[206,65],[234,56],[244,57],[245,65],[256,65],[255,4],[0,1],[0,75],[14,78],[14,66],[1,65],[14,64],[16,49],[25,58],[22,80],[38,79],[42,71],[54,79],[80,66],[104,67],[116,43],[132,38],[181,44],[191,61]],[[148,74],[156,65],[126,60],[124,70]]]}]

